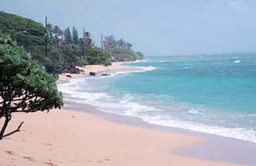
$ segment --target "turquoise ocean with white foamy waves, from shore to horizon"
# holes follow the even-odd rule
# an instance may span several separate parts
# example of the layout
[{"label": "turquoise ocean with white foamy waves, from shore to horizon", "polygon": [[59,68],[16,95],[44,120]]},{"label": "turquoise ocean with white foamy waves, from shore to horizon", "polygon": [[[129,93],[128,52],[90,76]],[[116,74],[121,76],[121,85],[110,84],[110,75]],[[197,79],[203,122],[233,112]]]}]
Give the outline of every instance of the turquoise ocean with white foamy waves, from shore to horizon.
[{"label": "turquoise ocean with white foamy waves, from shore to horizon", "polygon": [[256,54],[150,56],[143,72],[58,85],[76,102],[147,123],[256,143]]}]

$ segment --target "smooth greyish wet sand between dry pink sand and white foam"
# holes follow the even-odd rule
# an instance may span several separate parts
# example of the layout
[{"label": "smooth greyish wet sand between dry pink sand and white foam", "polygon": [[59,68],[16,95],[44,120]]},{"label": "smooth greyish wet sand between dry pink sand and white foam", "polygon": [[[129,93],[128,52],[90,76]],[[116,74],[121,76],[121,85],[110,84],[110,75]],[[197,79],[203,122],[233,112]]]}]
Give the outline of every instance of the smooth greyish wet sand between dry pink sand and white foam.
[{"label": "smooth greyish wet sand between dry pink sand and white foam", "polygon": [[[119,66],[119,64],[115,64],[115,65]],[[132,68],[135,68],[131,66],[121,66],[121,67],[122,68],[110,70],[110,73],[119,72],[123,70],[127,70],[128,72],[131,72],[133,71]],[[140,71],[140,72],[143,72],[143,71]],[[71,99],[73,98],[70,94],[64,94],[64,96],[66,96],[66,98],[71,98]],[[87,106],[88,104],[81,104],[81,102],[77,104],[88,107]],[[234,164],[240,163],[240,164],[253,165],[254,163],[256,163],[256,159],[254,159],[254,156],[256,155],[256,152],[255,152],[256,144],[253,142],[249,142],[246,140],[239,140],[239,139],[230,138],[226,136],[202,133],[199,131],[190,131],[188,129],[150,124],[146,121],[143,121],[139,117],[131,117],[128,115],[117,115],[117,114],[112,114],[108,112],[102,112],[101,110],[98,110],[96,106],[89,105],[89,108],[94,110],[93,112],[89,112],[89,114],[100,116],[103,119],[106,119],[107,121],[112,121],[114,123],[146,127],[148,129],[156,129],[160,131],[177,132],[177,133],[182,133],[184,135],[198,136],[203,139],[203,141],[200,142],[200,144],[196,144],[186,148],[182,148],[180,150],[176,150],[175,153],[180,154],[182,156],[195,157],[198,159],[207,159],[211,161],[221,161],[221,162],[234,163]],[[76,111],[75,109],[72,109],[72,108],[70,108],[70,110]],[[217,145],[217,147],[213,146],[213,144]],[[240,148],[241,146],[243,148]],[[210,154],[208,153],[209,149],[211,150]],[[220,153],[219,152],[220,149],[222,149],[224,153]],[[236,153],[238,152],[238,150],[244,151],[242,156],[241,154]]]}]

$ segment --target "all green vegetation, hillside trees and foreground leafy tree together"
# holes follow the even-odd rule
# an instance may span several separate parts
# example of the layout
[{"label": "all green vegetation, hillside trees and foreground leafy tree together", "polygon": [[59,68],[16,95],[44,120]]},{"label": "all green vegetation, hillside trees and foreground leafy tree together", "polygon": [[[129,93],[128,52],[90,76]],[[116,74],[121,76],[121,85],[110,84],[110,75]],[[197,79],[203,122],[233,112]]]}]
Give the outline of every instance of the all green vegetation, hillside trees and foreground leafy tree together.
[{"label": "all green vegetation, hillside trees and foreground leafy tree together", "polygon": [[5,117],[0,139],[12,113],[63,106],[62,93],[56,87],[58,75],[51,74],[63,70],[63,66],[110,66],[112,61],[143,56],[131,49],[133,45],[115,40],[113,35],[105,37],[104,48],[98,48],[88,31],[79,38],[74,26],[72,33],[70,28],[62,31],[53,24],[47,24],[46,29],[31,19],[0,12],[0,119]]}]

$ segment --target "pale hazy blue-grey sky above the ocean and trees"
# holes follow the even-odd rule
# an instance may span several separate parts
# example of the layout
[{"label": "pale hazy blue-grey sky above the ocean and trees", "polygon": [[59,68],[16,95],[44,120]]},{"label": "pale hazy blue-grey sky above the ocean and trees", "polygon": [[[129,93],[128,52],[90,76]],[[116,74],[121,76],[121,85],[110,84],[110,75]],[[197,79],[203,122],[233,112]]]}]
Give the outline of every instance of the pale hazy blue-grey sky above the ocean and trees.
[{"label": "pale hazy blue-grey sky above the ocean and trees", "polygon": [[[0,10],[132,43],[146,56],[256,52],[255,0],[0,0]],[[0,18],[1,19],[1,18]]]}]

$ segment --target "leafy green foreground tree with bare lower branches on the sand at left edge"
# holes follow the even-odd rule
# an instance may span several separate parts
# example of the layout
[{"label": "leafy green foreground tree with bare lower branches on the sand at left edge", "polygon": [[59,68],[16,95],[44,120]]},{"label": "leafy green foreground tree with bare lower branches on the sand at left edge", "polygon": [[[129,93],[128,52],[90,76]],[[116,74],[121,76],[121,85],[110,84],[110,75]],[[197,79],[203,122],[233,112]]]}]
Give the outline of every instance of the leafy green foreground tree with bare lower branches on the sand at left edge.
[{"label": "leafy green foreground tree with bare lower branches on the sand at left edge", "polygon": [[49,112],[63,106],[57,79],[58,75],[46,73],[23,47],[18,47],[9,35],[0,32],[0,120],[5,117],[0,139],[12,113]]}]

